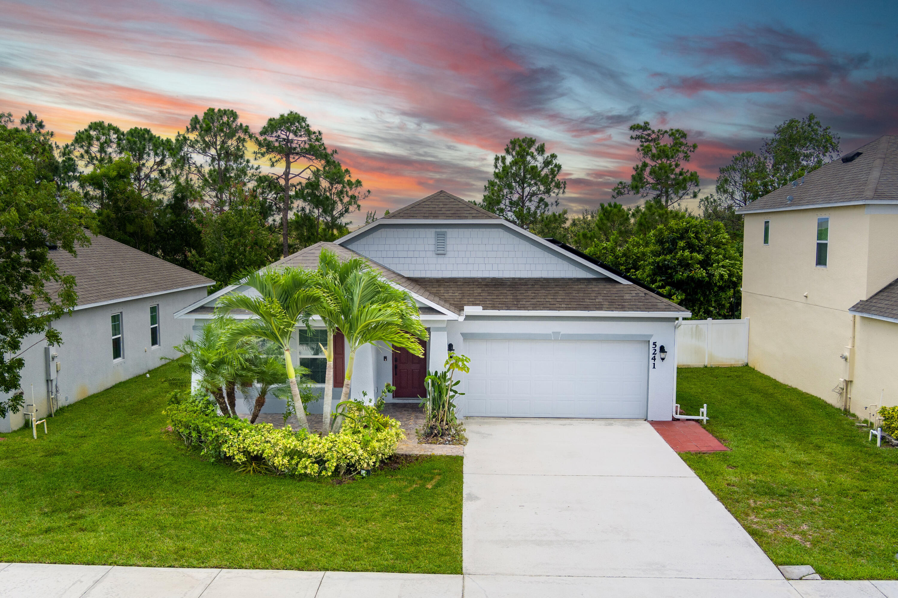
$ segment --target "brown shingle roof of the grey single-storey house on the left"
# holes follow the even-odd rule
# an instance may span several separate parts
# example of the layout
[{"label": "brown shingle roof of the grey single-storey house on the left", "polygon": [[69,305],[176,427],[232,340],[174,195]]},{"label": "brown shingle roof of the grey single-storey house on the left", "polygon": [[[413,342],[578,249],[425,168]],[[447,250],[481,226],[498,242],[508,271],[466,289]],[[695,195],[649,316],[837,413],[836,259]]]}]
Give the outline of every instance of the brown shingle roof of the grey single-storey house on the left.
[{"label": "brown shingle roof of the grey single-storey house on the left", "polygon": [[[50,251],[50,257],[60,270],[75,277],[78,305],[215,284],[196,272],[101,235],[91,235],[90,246],[75,250],[77,257],[63,250]],[[50,295],[56,294],[57,285],[47,287]],[[35,307],[41,310],[46,305]]]}]

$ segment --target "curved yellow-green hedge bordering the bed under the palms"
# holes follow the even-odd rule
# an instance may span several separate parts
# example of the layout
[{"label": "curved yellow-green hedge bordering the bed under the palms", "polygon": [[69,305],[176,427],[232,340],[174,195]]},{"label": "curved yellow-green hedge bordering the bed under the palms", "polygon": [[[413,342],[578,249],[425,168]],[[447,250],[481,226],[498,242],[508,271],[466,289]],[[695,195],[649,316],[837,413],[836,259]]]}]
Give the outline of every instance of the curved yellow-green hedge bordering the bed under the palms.
[{"label": "curved yellow-green hedge bordering the bed under the palms", "polygon": [[373,470],[396,453],[404,436],[397,420],[360,403],[348,405],[339,434],[327,436],[210,414],[198,400],[170,402],[165,414],[184,444],[202,447],[203,454],[245,471],[292,476],[350,476]]}]

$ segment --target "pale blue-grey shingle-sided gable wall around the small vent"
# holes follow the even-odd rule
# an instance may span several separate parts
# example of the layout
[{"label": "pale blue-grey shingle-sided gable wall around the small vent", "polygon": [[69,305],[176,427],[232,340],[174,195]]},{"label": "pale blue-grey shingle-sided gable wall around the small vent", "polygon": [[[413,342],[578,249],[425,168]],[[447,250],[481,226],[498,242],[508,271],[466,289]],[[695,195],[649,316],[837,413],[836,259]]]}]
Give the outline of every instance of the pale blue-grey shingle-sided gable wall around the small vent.
[{"label": "pale blue-grey shingle-sided gable wall around the small vent", "polygon": [[[445,255],[435,252],[437,230],[446,232]],[[382,225],[346,247],[407,277],[601,276],[501,225]]]}]

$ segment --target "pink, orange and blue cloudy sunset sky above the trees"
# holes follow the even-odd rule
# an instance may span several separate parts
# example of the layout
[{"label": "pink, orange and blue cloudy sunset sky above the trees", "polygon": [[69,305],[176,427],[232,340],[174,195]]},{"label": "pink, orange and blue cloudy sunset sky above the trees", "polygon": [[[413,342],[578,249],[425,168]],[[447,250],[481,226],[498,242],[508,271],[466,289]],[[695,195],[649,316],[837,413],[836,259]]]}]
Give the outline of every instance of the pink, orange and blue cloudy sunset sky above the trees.
[{"label": "pink, orange and blue cloudy sunset sky above the trees", "polygon": [[304,114],[371,189],[362,218],[479,199],[524,135],[579,212],[629,178],[637,121],[688,131],[705,191],[790,117],[843,152],[898,134],[898,3],[0,0],[0,111],[65,141],[97,119],[170,136],[209,106],[254,131]]}]

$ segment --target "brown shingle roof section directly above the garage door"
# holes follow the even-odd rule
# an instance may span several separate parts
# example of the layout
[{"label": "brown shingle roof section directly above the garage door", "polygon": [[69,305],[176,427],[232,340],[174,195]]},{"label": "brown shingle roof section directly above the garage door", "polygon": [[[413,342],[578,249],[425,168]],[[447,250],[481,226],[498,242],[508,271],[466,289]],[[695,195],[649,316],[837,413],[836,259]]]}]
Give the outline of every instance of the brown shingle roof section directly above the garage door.
[{"label": "brown shingle roof section directly above the garage door", "polygon": [[636,285],[611,278],[411,278],[459,312],[485,310],[586,312],[687,312]]}]

